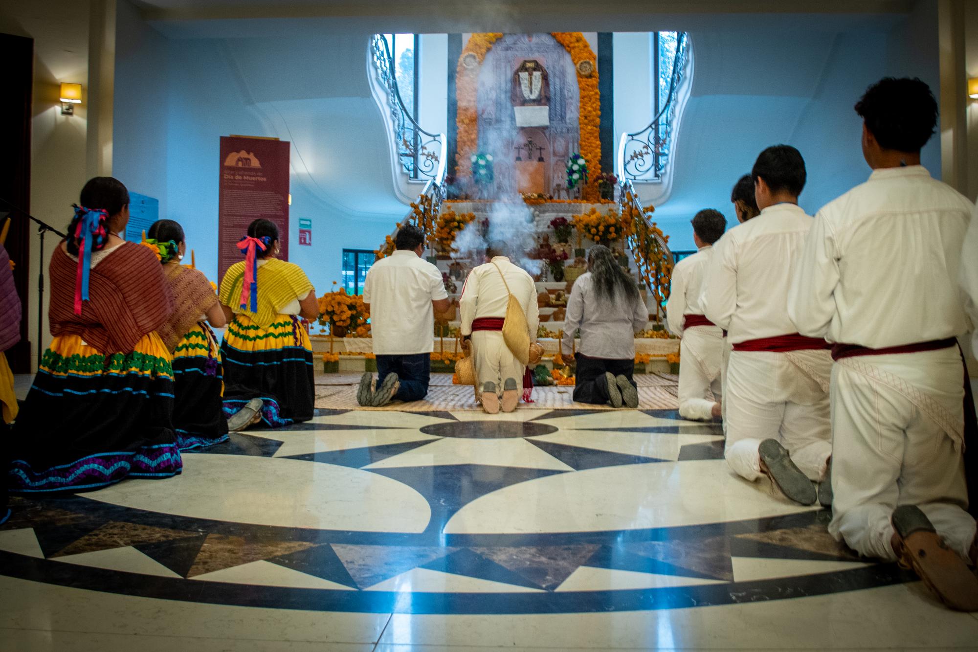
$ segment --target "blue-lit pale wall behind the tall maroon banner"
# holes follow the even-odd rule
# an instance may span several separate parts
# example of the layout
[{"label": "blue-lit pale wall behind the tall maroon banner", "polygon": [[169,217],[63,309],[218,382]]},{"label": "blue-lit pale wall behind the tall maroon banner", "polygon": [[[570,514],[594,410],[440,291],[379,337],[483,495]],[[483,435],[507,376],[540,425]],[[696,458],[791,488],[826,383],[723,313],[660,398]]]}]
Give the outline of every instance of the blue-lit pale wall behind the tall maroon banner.
[{"label": "blue-lit pale wall behind the tall maroon banner", "polygon": [[[221,136],[291,143],[289,259],[317,292],[339,280],[342,249],[376,249],[404,217],[366,83],[366,38],[171,40],[131,6],[118,21],[115,87],[125,91],[116,94],[114,173],[184,226],[212,280]],[[444,122],[444,99],[442,107]],[[299,218],[312,220],[312,247],[298,245]]]}]

